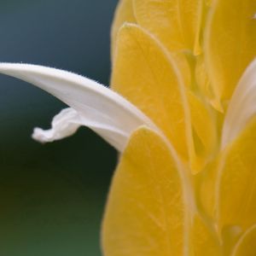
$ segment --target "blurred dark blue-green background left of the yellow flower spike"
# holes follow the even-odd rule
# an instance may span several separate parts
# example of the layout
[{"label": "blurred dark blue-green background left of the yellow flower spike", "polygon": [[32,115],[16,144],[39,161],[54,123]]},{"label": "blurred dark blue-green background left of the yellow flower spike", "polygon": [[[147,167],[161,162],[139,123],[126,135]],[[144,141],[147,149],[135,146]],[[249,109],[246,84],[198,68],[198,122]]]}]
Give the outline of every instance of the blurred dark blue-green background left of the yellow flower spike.
[{"label": "blurred dark blue-green background left of the yellow flower spike", "polygon": [[[117,0],[1,0],[0,61],[58,67],[108,84]],[[92,131],[41,145],[65,105],[0,76],[0,256],[101,255],[100,226],[116,152]]]}]

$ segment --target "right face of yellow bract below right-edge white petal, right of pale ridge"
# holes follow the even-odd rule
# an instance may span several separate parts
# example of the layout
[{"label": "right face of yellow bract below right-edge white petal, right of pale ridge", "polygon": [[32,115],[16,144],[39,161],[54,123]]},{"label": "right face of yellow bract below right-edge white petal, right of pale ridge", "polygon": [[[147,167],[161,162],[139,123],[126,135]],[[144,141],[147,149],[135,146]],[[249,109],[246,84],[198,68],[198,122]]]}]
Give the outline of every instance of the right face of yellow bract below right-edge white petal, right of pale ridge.
[{"label": "right face of yellow bract below right-edge white petal, right of pale ridge", "polygon": [[242,230],[256,223],[256,119],[226,148],[218,172],[218,224]]}]

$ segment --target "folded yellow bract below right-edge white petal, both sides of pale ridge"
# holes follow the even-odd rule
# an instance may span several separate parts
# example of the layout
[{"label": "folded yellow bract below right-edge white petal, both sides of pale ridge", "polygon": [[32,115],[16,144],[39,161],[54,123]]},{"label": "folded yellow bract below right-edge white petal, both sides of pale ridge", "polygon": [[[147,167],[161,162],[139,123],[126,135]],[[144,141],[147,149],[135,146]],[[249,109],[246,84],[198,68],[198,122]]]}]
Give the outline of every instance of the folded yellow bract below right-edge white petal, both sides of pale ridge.
[{"label": "folded yellow bract below right-edge white petal, both sides of pale ridge", "polygon": [[241,231],[256,223],[255,129],[253,119],[201,174],[199,208],[216,221],[218,234],[230,248]]}]

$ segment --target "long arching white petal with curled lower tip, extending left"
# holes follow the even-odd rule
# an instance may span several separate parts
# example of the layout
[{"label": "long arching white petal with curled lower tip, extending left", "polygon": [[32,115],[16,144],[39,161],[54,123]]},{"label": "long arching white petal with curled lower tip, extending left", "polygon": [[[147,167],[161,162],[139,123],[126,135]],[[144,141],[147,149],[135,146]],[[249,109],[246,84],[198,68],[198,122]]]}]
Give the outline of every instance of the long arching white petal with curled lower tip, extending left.
[{"label": "long arching white petal with curled lower tip, extending left", "polygon": [[[153,122],[113,90],[75,73],[30,64],[0,63],[0,73],[32,83],[75,110],[57,115],[50,131],[36,130],[33,137],[47,142],[67,137],[86,125],[123,151],[131,132],[140,125],[158,131]],[[67,123],[66,125],[64,125]]]}]

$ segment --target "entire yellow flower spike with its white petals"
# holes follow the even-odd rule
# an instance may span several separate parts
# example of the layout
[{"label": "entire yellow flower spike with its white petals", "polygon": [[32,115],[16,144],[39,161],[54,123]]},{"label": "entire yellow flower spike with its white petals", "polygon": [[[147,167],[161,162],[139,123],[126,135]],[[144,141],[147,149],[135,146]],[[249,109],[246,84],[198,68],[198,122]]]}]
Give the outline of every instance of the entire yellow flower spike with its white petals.
[{"label": "entire yellow flower spike with its white petals", "polygon": [[35,139],[86,125],[121,153],[104,255],[256,255],[255,13],[254,0],[121,0],[112,90],[0,64],[71,107]]}]

